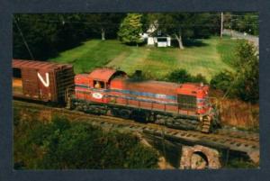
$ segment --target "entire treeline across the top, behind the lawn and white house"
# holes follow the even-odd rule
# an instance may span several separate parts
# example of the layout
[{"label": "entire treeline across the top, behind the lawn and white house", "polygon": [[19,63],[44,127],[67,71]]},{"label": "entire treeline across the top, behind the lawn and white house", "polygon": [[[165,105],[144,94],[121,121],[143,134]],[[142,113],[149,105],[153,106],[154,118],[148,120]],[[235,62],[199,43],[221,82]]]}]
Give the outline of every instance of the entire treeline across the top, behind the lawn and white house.
[{"label": "entire treeline across the top, behind the lawn and white house", "polygon": [[[225,14],[224,25],[257,34],[257,14]],[[170,14],[14,14],[14,58],[49,59],[87,39],[143,43],[143,32],[171,36],[184,49],[189,39],[220,33],[218,13]]]}]

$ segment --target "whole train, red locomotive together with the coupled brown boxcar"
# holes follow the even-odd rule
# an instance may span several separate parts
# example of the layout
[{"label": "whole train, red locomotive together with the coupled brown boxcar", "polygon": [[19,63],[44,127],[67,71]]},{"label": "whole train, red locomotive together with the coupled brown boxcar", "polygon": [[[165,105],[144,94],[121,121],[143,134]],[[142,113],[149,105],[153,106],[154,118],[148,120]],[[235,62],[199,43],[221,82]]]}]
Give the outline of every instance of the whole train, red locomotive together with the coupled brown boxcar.
[{"label": "whole train, red locomotive together with the coupled brown boxcar", "polygon": [[219,126],[217,112],[209,102],[209,87],[203,84],[130,78],[112,68],[75,76],[67,64],[14,60],[13,66],[14,95],[19,85],[24,97],[64,102],[67,108],[86,113],[202,132]]}]

